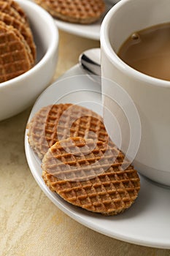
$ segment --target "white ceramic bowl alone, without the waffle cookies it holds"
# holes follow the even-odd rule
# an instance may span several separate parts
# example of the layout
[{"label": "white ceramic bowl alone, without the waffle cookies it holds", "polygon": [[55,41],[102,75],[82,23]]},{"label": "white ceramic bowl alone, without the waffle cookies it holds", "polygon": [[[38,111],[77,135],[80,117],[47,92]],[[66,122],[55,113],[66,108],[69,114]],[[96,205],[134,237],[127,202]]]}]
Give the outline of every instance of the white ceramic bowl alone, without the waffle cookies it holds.
[{"label": "white ceramic bowl alone, without the waffle cookies it holds", "polygon": [[0,83],[0,120],[34,103],[50,84],[58,60],[58,29],[53,18],[37,4],[17,0],[30,21],[36,44],[36,65],[17,78]]}]

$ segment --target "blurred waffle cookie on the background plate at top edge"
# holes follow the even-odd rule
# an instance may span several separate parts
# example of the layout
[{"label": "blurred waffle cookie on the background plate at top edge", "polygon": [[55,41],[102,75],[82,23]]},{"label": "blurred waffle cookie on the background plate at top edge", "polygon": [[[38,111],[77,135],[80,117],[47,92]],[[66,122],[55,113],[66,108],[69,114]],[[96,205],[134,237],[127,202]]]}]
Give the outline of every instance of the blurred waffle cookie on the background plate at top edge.
[{"label": "blurred waffle cookie on the background plate at top edge", "polygon": [[35,0],[55,18],[72,23],[88,24],[104,13],[103,0]]}]

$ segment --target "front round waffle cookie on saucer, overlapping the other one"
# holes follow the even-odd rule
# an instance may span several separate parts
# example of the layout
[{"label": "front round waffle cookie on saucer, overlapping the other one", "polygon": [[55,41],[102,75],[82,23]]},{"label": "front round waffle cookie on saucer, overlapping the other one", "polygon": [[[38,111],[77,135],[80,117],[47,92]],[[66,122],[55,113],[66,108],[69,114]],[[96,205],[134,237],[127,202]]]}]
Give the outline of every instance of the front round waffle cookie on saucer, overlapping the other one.
[{"label": "front round waffle cookie on saucer, overlapping the other one", "polygon": [[122,168],[124,157],[116,147],[106,147],[101,141],[94,146],[91,139],[61,140],[42,159],[42,178],[74,206],[104,215],[119,214],[134,203],[140,189],[134,167]]}]

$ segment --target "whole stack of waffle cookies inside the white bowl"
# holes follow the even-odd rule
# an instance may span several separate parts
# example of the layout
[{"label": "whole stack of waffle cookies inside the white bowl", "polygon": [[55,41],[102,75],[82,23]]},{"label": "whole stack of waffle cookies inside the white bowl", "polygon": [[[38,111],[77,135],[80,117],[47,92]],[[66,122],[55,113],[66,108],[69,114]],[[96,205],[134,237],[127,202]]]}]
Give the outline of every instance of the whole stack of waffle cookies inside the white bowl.
[{"label": "whole stack of waffle cookies inside the white bowl", "polygon": [[36,45],[26,12],[16,1],[0,1],[0,83],[34,67]]}]

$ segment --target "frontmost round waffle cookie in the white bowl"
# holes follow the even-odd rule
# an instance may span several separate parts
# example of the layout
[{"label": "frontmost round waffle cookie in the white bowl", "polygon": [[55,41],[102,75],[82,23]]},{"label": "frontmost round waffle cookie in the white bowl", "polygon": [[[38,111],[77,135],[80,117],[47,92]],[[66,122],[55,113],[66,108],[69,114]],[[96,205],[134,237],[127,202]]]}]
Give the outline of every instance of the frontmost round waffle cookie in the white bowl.
[{"label": "frontmost round waffle cookie in the white bowl", "polygon": [[31,69],[26,44],[19,31],[0,21],[0,83]]}]

